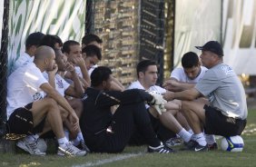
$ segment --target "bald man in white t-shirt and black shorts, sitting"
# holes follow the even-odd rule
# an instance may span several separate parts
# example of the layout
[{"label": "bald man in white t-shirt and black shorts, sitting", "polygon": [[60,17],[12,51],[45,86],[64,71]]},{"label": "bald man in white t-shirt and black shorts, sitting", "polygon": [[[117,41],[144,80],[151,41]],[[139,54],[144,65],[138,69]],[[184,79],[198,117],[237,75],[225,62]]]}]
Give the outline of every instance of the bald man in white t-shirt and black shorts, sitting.
[{"label": "bald man in white t-shirt and black shorts, sitting", "polygon": [[[26,134],[16,145],[34,155],[44,155],[37,148],[38,134],[52,130],[58,140],[58,152],[68,155],[85,155],[64,136],[63,120],[67,117],[79,127],[74,109],[44,78],[44,71],[54,71],[54,50],[40,46],[34,55],[34,63],[18,68],[7,80],[7,120],[10,133]],[[61,107],[59,107],[59,105]],[[61,113],[64,108],[66,113]]]}]

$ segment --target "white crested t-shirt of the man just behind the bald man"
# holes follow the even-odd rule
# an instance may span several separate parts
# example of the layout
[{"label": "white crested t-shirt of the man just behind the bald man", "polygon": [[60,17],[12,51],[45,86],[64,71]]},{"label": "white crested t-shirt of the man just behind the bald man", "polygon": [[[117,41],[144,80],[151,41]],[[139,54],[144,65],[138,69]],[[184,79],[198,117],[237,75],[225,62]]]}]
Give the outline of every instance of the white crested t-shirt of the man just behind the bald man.
[{"label": "white crested t-shirt of the man just behind the bald man", "polygon": [[[43,74],[44,74],[44,78],[47,81],[49,81],[48,74],[46,72],[44,72]],[[70,84],[67,83],[61,75],[55,74],[55,89],[58,91],[58,93],[64,96],[64,92],[69,86]]]}]

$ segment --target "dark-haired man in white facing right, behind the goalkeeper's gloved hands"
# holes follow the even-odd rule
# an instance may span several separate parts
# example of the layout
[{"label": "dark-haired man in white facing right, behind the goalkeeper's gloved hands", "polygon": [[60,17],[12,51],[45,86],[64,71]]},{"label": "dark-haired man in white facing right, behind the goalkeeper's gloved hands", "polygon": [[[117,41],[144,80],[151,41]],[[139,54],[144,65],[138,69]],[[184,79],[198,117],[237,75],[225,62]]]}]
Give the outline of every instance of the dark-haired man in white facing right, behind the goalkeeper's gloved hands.
[{"label": "dark-haired man in white facing right, behind the goalkeeper's gloved hands", "polygon": [[[156,91],[157,93],[166,93],[166,90],[155,85],[157,80],[157,66],[155,62],[143,60],[137,65],[138,81],[132,83],[128,89],[143,89],[147,91]],[[167,112],[161,115],[156,113],[152,107],[146,107],[150,113],[152,123],[160,121],[165,127],[174,133],[178,133],[185,142],[189,142],[192,134],[188,133],[176,119],[179,111],[178,102],[168,102],[165,104]],[[158,120],[159,119],[159,120]],[[166,132],[167,133],[167,132]]]}]

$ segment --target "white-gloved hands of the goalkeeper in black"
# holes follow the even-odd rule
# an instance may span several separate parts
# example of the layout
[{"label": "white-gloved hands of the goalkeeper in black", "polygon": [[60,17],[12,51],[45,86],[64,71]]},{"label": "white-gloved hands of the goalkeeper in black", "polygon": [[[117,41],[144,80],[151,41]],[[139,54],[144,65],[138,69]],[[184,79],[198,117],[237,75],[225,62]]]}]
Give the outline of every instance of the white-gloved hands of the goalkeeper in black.
[{"label": "white-gloved hands of the goalkeeper in black", "polygon": [[150,104],[153,105],[153,108],[155,108],[157,113],[162,114],[162,112],[166,112],[164,104],[167,103],[167,101],[162,98],[162,94],[155,91],[151,91],[148,93],[153,96],[153,100],[152,102],[150,102]]}]

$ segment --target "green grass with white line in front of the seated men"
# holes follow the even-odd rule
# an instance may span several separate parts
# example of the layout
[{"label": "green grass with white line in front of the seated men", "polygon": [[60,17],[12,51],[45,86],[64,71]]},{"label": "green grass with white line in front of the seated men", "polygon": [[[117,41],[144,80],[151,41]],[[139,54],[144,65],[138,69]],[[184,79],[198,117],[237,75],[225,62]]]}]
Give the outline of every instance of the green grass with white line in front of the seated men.
[{"label": "green grass with white line in front of the seated men", "polygon": [[[256,109],[249,111],[248,123],[242,138],[243,152],[177,152],[174,154],[146,153],[146,146],[127,147],[123,153],[90,153],[85,157],[59,157],[53,152],[44,157],[31,156],[24,152],[0,153],[0,166],[256,166]],[[220,140],[218,140],[220,142]],[[175,149],[175,147],[174,147]],[[178,148],[177,148],[178,150]],[[107,162],[115,158],[123,160]],[[131,156],[130,158],[127,158]],[[106,162],[105,162],[106,161]],[[102,162],[102,163],[101,163]]]}]

